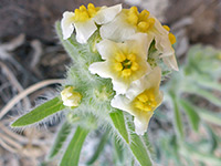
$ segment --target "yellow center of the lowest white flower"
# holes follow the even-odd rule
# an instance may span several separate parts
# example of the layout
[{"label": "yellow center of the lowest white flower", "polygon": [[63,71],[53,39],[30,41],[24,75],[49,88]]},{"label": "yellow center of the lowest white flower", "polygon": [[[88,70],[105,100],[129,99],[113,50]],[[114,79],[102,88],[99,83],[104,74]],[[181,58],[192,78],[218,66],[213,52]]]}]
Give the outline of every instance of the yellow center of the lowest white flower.
[{"label": "yellow center of the lowest white flower", "polygon": [[134,100],[134,106],[140,111],[149,112],[157,106],[154,90],[146,90]]}]

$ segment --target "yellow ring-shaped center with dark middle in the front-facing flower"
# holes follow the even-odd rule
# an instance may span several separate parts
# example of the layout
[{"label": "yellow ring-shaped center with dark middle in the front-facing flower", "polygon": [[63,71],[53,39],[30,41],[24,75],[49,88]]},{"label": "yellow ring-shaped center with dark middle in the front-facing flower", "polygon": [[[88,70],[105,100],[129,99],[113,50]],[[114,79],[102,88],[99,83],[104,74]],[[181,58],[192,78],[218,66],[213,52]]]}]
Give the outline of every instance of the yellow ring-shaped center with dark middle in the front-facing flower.
[{"label": "yellow ring-shaped center with dark middle in the front-facing flower", "polygon": [[119,75],[123,77],[128,77],[133,72],[139,69],[138,63],[136,62],[136,54],[129,53],[117,53],[115,55],[114,70],[119,72]]}]

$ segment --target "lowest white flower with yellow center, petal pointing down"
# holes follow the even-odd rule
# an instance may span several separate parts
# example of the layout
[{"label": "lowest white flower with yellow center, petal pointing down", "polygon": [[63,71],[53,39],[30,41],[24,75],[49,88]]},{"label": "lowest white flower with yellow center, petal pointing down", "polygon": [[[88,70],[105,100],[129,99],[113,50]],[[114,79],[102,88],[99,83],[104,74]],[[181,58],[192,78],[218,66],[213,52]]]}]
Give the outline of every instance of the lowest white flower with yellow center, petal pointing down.
[{"label": "lowest white flower with yellow center, petal pointing down", "polygon": [[147,131],[154,111],[162,101],[160,79],[161,70],[157,66],[140,80],[134,81],[125,95],[119,94],[112,100],[113,107],[135,116],[135,131],[139,135]]}]

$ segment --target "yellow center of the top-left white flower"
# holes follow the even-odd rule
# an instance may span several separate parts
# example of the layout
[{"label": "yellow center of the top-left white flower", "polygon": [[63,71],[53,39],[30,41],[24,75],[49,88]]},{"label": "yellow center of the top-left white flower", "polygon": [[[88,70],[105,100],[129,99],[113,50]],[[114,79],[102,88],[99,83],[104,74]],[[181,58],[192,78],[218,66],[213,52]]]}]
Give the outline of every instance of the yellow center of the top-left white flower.
[{"label": "yellow center of the top-left white flower", "polygon": [[95,17],[98,10],[99,8],[95,8],[93,3],[88,3],[87,9],[85,6],[81,6],[80,9],[74,10],[74,20],[80,22],[87,21]]}]

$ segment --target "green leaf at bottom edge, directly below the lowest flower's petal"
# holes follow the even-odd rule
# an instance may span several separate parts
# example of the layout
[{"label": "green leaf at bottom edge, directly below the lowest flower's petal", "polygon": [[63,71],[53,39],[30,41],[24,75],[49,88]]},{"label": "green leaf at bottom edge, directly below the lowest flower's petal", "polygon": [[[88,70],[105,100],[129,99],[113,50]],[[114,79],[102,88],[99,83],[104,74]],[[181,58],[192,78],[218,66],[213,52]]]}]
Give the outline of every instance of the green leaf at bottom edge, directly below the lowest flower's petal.
[{"label": "green leaf at bottom edge, directly below the lowest flower's petal", "polygon": [[130,147],[134,156],[139,162],[139,164],[141,166],[151,166],[152,163],[151,163],[148,149],[147,149],[144,141],[141,139],[141,137],[138,136],[137,134],[131,134],[130,138],[131,138],[131,142],[129,144],[129,147]]}]

